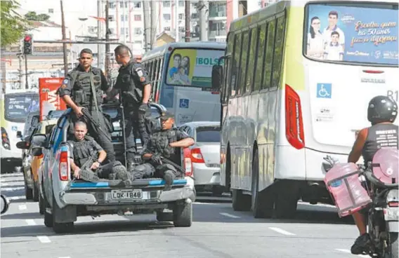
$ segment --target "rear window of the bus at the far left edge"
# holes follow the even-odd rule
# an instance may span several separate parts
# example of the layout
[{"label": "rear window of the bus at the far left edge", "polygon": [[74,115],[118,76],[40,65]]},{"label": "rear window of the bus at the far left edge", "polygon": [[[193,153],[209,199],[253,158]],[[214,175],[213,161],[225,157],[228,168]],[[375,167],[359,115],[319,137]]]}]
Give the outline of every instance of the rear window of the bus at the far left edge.
[{"label": "rear window of the bus at the far left edge", "polygon": [[39,111],[39,95],[6,95],[4,118],[23,123],[30,112]]}]

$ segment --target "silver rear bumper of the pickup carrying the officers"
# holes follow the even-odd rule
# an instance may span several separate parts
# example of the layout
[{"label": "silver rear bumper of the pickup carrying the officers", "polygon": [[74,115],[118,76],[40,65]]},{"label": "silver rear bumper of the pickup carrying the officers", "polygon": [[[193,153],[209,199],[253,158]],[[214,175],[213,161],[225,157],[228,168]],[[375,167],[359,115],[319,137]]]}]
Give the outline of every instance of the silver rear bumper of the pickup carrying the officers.
[{"label": "silver rear bumper of the pickup carrying the officers", "polygon": [[[110,189],[111,191],[111,189]],[[109,191],[109,193],[110,193]],[[169,203],[180,201],[190,198],[192,202],[195,201],[195,191],[192,186],[182,187],[178,189],[171,189],[170,191],[152,191],[150,197],[145,200],[137,201],[108,201],[105,195],[108,192],[95,192],[95,193],[71,193],[60,192],[60,201],[66,205],[140,205],[140,203]]]}]

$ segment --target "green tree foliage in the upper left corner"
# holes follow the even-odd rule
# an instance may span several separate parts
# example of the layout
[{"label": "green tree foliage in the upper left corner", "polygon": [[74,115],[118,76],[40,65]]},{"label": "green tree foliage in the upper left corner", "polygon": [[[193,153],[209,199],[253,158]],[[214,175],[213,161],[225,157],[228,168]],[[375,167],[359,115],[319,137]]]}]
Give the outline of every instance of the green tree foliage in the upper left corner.
[{"label": "green tree foliage in the upper left corner", "polygon": [[27,31],[29,22],[15,9],[20,6],[17,1],[1,1],[1,47],[18,42]]}]

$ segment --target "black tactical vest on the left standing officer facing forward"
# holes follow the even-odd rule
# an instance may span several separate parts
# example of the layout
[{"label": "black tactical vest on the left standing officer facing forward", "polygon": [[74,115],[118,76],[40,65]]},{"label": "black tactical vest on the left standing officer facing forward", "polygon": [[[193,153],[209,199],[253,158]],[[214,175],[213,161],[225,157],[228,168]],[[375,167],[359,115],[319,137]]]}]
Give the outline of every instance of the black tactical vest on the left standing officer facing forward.
[{"label": "black tactical vest on the left standing officer facing forward", "polygon": [[[72,74],[73,73],[73,74]],[[103,103],[103,91],[101,90],[101,70],[91,67],[90,72],[81,72],[74,70],[71,72],[71,77],[74,79],[72,90],[72,100],[81,107],[95,107],[93,97],[97,98],[98,106]],[[73,80],[73,79],[72,79]],[[96,96],[93,96],[91,89],[91,81],[93,81],[93,88]]]}]

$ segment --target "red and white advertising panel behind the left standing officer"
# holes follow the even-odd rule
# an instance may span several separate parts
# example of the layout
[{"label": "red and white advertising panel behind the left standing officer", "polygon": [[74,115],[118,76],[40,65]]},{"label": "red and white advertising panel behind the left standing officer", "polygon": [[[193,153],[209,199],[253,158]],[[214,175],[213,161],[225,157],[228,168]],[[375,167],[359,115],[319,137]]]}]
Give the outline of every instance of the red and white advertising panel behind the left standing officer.
[{"label": "red and white advertising panel behind the left standing officer", "polygon": [[39,79],[39,98],[40,98],[40,121],[46,118],[51,110],[65,110],[67,106],[57,90],[63,83],[63,78],[40,78]]}]

